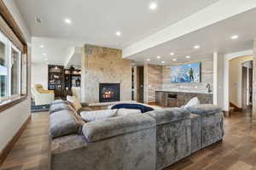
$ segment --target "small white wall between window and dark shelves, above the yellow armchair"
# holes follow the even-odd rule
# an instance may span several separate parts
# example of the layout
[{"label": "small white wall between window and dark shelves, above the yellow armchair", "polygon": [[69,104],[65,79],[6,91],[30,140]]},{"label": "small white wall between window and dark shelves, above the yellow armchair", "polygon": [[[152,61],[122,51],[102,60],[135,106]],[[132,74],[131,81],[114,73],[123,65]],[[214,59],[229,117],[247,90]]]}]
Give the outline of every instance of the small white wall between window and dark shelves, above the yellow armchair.
[{"label": "small white wall between window and dark shelves, above the yellow armchair", "polygon": [[48,89],[48,65],[35,64],[31,65],[31,83],[42,84],[44,89]]}]

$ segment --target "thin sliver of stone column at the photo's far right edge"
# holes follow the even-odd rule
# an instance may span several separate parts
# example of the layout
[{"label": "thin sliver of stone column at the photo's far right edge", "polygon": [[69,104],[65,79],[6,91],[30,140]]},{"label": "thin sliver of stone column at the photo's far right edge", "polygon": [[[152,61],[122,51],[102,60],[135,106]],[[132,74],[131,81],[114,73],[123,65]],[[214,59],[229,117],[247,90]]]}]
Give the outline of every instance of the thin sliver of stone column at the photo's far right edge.
[{"label": "thin sliver of stone column at the photo's far right edge", "polygon": [[256,40],[253,42],[253,120],[256,120]]}]

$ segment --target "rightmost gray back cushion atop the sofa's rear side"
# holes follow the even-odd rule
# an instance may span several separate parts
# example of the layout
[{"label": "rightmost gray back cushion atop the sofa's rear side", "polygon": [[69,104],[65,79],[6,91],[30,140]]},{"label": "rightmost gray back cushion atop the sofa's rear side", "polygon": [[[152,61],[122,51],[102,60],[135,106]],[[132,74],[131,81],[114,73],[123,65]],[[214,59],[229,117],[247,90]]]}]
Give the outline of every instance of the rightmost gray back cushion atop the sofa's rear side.
[{"label": "rightmost gray back cushion atop the sofa's rear side", "polygon": [[212,104],[193,105],[186,108],[187,111],[198,115],[212,115],[222,111],[220,107]]}]

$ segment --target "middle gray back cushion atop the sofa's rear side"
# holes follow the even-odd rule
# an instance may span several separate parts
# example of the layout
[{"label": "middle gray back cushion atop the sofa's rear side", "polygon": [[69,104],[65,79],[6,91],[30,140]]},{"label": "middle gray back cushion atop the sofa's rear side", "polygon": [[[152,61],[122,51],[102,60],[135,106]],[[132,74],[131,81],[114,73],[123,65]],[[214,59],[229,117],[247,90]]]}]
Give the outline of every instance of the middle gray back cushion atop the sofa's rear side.
[{"label": "middle gray back cushion atop the sofa's rear side", "polygon": [[160,109],[155,111],[149,111],[147,113],[149,116],[154,117],[156,123],[164,124],[167,122],[175,122],[177,120],[181,120],[189,117],[189,111],[185,111],[181,108],[168,108],[168,109]]}]

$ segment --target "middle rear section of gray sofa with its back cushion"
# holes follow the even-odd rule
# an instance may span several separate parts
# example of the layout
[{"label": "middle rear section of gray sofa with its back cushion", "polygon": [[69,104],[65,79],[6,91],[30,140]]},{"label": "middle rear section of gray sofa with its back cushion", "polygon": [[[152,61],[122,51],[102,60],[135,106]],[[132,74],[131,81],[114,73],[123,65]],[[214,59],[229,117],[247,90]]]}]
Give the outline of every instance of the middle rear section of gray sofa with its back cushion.
[{"label": "middle rear section of gray sofa with its back cushion", "polygon": [[191,120],[180,108],[148,112],[156,121],[156,167],[163,169],[191,154]]}]

